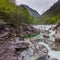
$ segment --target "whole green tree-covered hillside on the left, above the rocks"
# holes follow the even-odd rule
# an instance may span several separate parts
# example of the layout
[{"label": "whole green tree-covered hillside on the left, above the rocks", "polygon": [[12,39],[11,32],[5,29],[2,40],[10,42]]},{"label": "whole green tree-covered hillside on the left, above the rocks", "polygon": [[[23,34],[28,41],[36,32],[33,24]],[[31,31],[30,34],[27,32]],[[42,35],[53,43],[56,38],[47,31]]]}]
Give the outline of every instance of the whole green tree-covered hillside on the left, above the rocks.
[{"label": "whole green tree-covered hillside on the left, above the rocks", "polygon": [[19,27],[22,23],[33,24],[34,17],[24,6],[16,6],[10,0],[0,0],[0,19]]}]

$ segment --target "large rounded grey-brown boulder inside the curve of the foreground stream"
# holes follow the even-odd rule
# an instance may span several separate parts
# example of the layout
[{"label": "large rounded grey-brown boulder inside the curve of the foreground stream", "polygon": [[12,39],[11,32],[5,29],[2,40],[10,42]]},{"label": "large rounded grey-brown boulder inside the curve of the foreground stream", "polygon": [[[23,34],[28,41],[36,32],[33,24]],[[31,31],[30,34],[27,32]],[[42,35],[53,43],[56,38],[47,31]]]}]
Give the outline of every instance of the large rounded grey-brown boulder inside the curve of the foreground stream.
[{"label": "large rounded grey-brown boulder inside the curve of the foreground stream", "polygon": [[48,49],[43,45],[39,44],[36,60],[48,60]]}]

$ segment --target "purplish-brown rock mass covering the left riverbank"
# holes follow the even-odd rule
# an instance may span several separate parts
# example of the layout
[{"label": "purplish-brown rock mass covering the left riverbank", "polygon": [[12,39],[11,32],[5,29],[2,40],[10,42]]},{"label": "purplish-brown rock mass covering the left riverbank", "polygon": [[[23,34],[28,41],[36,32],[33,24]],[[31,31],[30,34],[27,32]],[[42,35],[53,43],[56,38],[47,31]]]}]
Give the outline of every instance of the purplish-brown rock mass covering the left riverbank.
[{"label": "purplish-brown rock mass covering the left riverbank", "polygon": [[20,26],[20,29],[6,28],[5,30],[4,31],[1,30],[2,33],[0,34],[0,38],[5,40],[5,42],[7,41],[8,42],[2,44],[4,46],[2,46],[0,51],[0,60],[19,60],[20,57],[16,52],[21,52],[21,50],[25,50],[26,48],[29,48],[29,43],[25,41],[24,42],[18,41],[19,43],[17,43],[16,42],[17,39],[15,39],[15,37],[19,37],[19,39],[22,37],[24,39],[24,36],[28,34],[37,33],[38,30],[33,28],[33,26],[31,25]]}]

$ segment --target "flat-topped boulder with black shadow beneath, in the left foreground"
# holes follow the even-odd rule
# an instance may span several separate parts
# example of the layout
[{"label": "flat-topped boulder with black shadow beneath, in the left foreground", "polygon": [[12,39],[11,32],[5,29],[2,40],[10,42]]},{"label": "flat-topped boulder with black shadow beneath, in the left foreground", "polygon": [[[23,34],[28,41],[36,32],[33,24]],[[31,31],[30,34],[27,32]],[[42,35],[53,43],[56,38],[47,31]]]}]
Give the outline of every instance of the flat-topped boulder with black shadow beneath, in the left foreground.
[{"label": "flat-topped boulder with black shadow beneath, in the left foreground", "polygon": [[15,44],[16,51],[23,51],[27,48],[29,48],[29,43],[25,41],[19,41],[18,43]]}]

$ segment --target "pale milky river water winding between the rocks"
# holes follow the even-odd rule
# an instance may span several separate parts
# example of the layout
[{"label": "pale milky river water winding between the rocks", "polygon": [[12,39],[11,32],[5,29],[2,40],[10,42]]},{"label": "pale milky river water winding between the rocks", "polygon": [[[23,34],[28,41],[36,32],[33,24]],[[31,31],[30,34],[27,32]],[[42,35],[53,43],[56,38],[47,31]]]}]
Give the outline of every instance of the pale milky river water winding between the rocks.
[{"label": "pale milky river water winding between the rocks", "polygon": [[[38,26],[34,26],[34,27],[37,28],[37,29],[43,29],[43,30],[46,29],[46,30],[48,30],[49,28],[54,27],[54,26],[55,25],[53,25],[53,26],[51,26],[51,25],[38,25]],[[52,31],[51,33],[54,33],[54,32]],[[40,33],[35,38],[42,38],[43,39],[43,33]],[[51,38],[51,40],[52,40],[52,38]],[[60,51],[51,50],[51,48],[47,44],[45,44],[43,41],[42,42],[40,41],[39,44],[43,44],[43,45],[45,45],[48,48],[48,50],[49,50],[49,53],[48,54],[52,58],[57,58],[58,60],[60,60]]]}]

